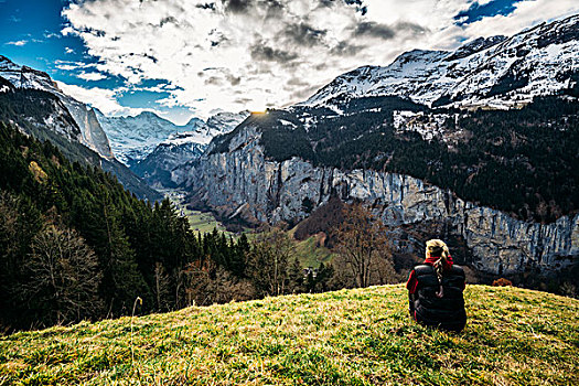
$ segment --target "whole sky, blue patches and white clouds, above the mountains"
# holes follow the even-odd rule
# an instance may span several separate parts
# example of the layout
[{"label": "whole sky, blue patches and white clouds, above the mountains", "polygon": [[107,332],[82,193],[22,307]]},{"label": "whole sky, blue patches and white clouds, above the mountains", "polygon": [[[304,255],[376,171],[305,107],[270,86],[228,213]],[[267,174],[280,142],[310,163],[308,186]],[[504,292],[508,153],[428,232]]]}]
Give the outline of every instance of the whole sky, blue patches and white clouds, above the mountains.
[{"label": "whole sky, blue patches and white clouds, above the mountains", "polygon": [[106,115],[261,111],[414,50],[579,13],[578,0],[0,0],[0,55]]}]

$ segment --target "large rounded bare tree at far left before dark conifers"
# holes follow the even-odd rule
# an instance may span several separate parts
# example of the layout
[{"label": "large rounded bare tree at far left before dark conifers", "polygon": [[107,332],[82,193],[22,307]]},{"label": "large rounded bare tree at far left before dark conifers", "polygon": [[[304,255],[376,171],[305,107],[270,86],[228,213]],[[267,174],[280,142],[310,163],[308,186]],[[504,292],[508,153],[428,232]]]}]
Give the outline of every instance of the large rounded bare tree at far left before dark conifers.
[{"label": "large rounded bare tree at far left before dark conifers", "polygon": [[49,226],[32,242],[23,293],[37,309],[47,309],[51,323],[79,321],[98,313],[98,262],[85,240],[71,229]]}]

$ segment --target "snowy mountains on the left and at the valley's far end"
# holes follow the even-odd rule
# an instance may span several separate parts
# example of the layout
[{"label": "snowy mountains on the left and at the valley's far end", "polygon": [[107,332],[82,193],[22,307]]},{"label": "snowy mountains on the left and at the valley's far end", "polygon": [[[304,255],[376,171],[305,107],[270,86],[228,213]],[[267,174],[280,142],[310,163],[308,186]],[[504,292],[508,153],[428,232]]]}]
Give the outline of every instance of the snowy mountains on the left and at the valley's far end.
[{"label": "snowy mountains on the left and at the valley's far end", "polygon": [[[201,156],[213,137],[233,130],[249,115],[223,111],[207,121],[193,117],[184,126],[151,111],[107,117],[66,95],[46,73],[18,65],[6,56],[0,56],[0,96],[3,119],[55,142],[73,160],[112,172],[127,189],[153,201],[161,195],[129,168],[153,185],[158,174],[164,176],[174,167]],[[174,185],[170,178],[161,180]]]}]

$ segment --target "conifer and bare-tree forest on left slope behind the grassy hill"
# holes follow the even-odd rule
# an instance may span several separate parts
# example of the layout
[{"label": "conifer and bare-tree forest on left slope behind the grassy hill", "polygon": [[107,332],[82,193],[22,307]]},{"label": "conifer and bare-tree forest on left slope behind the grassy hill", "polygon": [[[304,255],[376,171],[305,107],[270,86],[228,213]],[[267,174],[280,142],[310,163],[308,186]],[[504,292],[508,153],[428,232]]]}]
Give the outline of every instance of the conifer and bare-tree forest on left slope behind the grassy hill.
[{"label": "conifer and bare-tree forest on left slope behind the grassy hill", "polygon": [[0,122],[0,331],[322,290],[287,233],[194,233],[169,200],[138,200]]}]

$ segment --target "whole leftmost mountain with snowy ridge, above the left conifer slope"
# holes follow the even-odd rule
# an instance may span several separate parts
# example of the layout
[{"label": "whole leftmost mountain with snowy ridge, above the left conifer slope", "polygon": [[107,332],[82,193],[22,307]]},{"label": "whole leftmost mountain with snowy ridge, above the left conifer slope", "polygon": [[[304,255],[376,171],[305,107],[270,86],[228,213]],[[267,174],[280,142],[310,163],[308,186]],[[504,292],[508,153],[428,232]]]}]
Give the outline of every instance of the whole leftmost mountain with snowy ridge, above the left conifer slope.
[{"label": "whole leftmost mountain with snowy ridge, above the left conifer slope", "polygon": [[122,185],[149,201],[161,199],[115,159],[95,110],[64,94],[43,72],[0,56],[0,119],[41,140],[50,140],[72,161],[114,173]]}]

